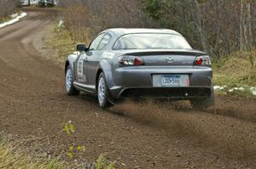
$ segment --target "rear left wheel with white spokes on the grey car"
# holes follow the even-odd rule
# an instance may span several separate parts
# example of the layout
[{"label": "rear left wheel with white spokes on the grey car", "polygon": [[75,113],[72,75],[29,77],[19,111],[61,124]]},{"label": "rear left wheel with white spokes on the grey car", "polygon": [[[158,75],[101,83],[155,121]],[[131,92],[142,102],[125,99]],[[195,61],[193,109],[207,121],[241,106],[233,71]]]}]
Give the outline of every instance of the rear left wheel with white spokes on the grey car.
[{"label": "rear left wheel with white spokes on the grey car", "polygon": [[103,73],[101,73],[101,75],[98,78],[97,97],[98,103],[102,109],[107,109],[110,106],[110,103],[108,102],[108,84],[106,81],[106,77]]}]

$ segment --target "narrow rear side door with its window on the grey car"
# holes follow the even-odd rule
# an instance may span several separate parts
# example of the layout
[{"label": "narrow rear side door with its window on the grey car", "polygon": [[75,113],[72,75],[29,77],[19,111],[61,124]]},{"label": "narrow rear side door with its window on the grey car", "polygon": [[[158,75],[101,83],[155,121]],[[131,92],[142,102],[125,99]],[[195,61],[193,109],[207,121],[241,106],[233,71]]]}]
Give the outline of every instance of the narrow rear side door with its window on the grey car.
[{"label": "narrow rear side door with its window on the grey car", "polygon": [[96,89],[96,69],[101,61],[102,53],[106,50],[108,43],[111,40],[109,33],[103,34],[101,42],[94,49],[90,49],[87,54],[87,63],[85,65],[85,72],[87,76],[87,84],[91,88]]}]

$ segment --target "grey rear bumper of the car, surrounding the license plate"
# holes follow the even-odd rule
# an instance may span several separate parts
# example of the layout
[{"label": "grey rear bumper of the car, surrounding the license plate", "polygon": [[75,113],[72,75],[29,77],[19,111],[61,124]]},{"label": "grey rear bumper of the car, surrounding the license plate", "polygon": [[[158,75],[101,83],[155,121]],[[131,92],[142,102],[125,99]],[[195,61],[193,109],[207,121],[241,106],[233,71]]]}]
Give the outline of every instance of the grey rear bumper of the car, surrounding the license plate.
[{"label": "grey rear bumper of the car, surrounding the license plate", "polygon": [[[189,87],[154,87],[153,75],[189,75]],[[108,84],[113,99],[120,97],[150,97],[189,99],[209,97],[212,88],[212,68],[200,66],[140,66],[113,71]],[[109,81],[108,81],[109,82]]]}]

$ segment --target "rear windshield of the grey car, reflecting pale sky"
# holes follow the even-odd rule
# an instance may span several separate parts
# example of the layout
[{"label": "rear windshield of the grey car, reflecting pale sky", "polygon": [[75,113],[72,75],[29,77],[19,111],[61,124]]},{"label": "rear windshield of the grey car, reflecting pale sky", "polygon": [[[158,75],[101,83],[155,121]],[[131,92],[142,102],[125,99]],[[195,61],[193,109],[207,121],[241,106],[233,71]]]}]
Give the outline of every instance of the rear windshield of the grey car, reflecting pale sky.
[{"label": "rear windshield of the grey car, reflecting pale sky", "polygon": [[120,37],[113,50],[120,49],[190,49],[189,43],[174,34],[128,34]]}]

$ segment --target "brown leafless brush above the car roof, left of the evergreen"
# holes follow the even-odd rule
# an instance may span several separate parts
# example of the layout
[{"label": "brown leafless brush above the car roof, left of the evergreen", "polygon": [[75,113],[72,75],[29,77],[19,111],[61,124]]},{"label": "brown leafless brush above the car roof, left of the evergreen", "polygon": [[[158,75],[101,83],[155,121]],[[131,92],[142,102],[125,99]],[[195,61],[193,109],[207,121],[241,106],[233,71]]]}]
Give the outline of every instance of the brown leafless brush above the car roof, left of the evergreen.
[{"label": "brown leafless brush above the car roof, left of the evergreen", "polygon": [[89,44],[100,31],[113,27],[154,27],[141,1],[62,0],[64,20],[73,40]]}]

